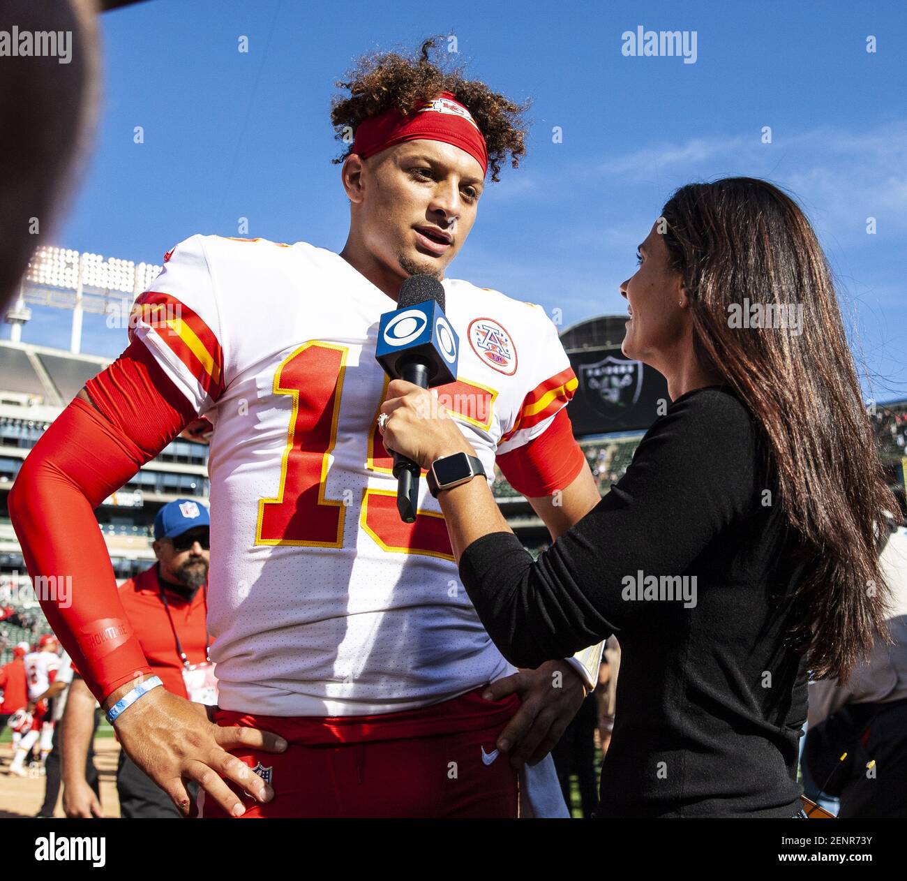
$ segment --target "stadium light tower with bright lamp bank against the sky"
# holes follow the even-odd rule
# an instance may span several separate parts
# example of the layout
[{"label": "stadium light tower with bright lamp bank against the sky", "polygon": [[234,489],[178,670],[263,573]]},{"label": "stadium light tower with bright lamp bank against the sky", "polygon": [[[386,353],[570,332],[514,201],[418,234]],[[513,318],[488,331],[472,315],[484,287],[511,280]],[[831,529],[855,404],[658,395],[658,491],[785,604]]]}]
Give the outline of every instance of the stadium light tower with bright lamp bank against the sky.
[{"label": "stadium light tower with bright lamp bank against the sky", "polygon": [[[19,296],[6,310],[10,339],[19,342],[22,326],[32,317],[27,303],[73,311],[69,349],[82,348],[82,319],[85,312],[108,314],[132,307],[133,300],[151,285],[161,267],[154,263],[103,258],[100,254],[42,246],[28,264]],[[123,295],[128,295],[128,298]],[[128,299],[127,303],[123,300]],[[125,318],[125,316],[123,316]]]}]

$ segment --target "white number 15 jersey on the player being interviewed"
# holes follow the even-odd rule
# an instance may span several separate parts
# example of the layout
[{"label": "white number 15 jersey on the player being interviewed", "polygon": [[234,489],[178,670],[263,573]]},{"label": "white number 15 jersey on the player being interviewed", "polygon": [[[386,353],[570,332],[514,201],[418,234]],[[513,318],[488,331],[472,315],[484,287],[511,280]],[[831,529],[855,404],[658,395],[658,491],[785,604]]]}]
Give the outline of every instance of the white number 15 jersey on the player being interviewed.
[{"label": "white number 15 jersey on the player being interviewed", "polygon": [[[420,482],[400,521],[375,361],[395,301],[306,242],[193,236],[136,300],[138,336],[210,438],[209,621],[219,704],[275,716],[410,710],[512,671]],[[577,385],[544,310],[444,280],[460,338],[438,388],[481,458],[540,435]]]}]

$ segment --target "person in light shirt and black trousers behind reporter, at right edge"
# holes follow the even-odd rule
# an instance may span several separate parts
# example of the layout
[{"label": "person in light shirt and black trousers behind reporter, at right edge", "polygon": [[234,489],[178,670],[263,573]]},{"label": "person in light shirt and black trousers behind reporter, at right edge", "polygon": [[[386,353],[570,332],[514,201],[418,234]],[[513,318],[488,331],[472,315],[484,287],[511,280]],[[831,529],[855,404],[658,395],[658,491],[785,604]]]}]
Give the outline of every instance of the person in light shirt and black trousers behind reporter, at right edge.
[{"label": "person in light shirt and black trousers behind reporter, at right edge", "polygon": [[893,645],[876,639],[846,684],[809,690],[803,760],[815,785],[841,799],[838,817],[907,817],[907,530],[892,524],[882,567]]}]

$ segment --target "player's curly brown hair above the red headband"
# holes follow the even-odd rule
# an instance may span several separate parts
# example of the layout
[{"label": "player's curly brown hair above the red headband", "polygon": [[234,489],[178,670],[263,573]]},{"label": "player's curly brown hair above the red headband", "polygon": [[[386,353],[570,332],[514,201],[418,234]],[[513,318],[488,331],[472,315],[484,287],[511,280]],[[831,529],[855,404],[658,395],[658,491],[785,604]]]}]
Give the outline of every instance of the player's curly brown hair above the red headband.
[{"label": "player's curly brown hair above the red headband", "polygon": [[[418,53],[405,57],[394,52],[373,53],[357,59],[346,73],[346,79],[335,85],[349,91],[349,97],[338,95],[331,101],[331,123],[336,139],[348,144],[346,152],[331,162],[343,162],[352,152],[351,134],[355,135],[360,122],[395,106],[400,113],[410,113],[419,101],[430,101],[442,92],[450,92],[473,115],[483,133],[488,149],[488,164],[492,180],[499,181],[498,172],[508,153],[516,168],[526,152],[528,122],[522,114],[531,101],[513,103],[502,94],[493,92],[485,83],[463,78],[463,68],[449,72],[429,57],[429,49],[437,49],[444,36],[425,40]],[[443,57],[440,50],[436,53]]]}]

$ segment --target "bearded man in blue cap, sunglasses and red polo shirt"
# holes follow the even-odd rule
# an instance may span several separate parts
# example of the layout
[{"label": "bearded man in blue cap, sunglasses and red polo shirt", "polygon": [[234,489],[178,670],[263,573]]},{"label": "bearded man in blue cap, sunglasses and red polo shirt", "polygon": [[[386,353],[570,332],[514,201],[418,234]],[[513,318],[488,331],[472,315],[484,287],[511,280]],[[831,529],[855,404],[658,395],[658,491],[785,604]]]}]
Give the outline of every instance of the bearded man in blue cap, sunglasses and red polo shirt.
[{"label": "bearded man in blue cap, sunglasses and red polo shirt", "polygon": [[[164,688],[199,703],[217,703],[208,661],[208,508],[191,499],[165,504],[154,518],[157,562],[120,585],[120,599],[153,673]],[[84,776],[95,700],[81,677],[63,717],[63,809],[67,817],[102,817]],[[171,798],[120,751],[117,792],[122,817],[179,817]]]}]

